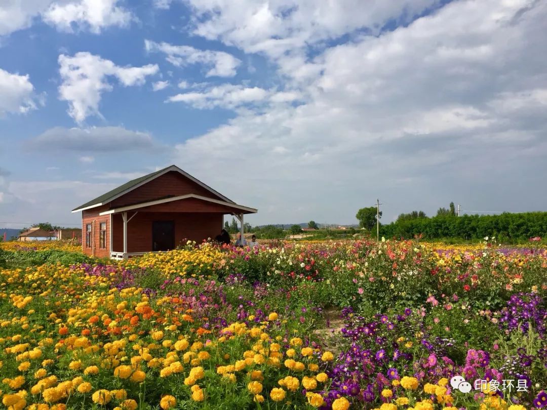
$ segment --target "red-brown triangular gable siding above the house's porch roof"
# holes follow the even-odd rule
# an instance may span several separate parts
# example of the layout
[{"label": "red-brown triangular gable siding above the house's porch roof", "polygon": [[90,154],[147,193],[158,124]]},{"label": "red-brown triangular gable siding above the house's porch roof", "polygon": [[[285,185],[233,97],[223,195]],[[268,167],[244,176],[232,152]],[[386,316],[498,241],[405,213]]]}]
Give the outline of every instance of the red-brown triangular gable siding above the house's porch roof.
[{"label": "red-brown triangular gable siding above the house's porch roof", "polygon": [[170,171],[161,175],[161,177],[153,179],[152,181],[127,192],[127,194],[120,196],[110,203],[110,207],[114,208],[152,201],[170,195],[179,196],[187,194],[197,194],[207,198],[222,200],[222,198],[214,195],[194,181],[184,177],[184,175],[181,175],[176,171]]}]

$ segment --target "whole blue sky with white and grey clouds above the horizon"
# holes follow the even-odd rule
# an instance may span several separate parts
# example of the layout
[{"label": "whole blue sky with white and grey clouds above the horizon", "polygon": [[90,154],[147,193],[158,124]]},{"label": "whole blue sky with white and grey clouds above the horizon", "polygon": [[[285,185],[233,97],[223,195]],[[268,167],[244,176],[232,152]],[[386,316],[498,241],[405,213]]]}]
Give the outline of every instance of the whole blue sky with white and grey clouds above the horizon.
[{"label": "whole blue sky with white and grey clouds above the horizon", "polygon": [[173,163],[251,224],[545,210],[546,3],[10,0],[0,225]]}]

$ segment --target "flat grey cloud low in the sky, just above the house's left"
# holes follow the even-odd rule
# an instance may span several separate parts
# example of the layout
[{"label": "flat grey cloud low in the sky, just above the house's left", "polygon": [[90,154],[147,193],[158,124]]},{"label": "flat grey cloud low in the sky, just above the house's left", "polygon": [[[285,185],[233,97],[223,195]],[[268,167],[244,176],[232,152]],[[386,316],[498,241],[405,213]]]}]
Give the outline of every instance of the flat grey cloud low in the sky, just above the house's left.
[{"label": "flat grey cloud low in the sky, just above the house's left", "polygon": [[55,127],[26,142],[32,151],[73,151],[106,153],[154,151],[161,145],[150,134],[123,127],[63,128]]}]

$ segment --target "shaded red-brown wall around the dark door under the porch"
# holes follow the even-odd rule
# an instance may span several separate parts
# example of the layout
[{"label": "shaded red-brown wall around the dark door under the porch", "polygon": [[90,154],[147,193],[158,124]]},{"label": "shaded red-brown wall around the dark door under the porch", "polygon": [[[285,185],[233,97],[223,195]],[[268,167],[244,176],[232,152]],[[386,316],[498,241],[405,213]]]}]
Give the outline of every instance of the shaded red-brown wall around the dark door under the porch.
[{"label": "shaded red-brown wall around the dark door under the porch", "polygon": [[[132,211],[127,212],[131,218]],[[214,238],[222,229],[223,214],[220,213],[168,213],[139,212],[127,222],[127,252],[152,251],[152,222],[174,221],[175,245],[190,239],[200,243],[203,239]],[[124,250],[124,221],[121,214],[112,215],[113,251]],[[84,241],[85,242],[85,241]]]}]

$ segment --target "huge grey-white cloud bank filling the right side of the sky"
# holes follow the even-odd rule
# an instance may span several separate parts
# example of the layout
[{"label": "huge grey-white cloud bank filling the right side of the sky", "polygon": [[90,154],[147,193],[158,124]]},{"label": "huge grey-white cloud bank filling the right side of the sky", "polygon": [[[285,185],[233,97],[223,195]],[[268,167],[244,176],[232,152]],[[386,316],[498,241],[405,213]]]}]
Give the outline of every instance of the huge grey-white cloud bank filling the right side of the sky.
[{"label": "huge grey-white cloud bank filling the right side of the sky", "polygon": [[[274,36],[270,31],[282,33],[275,28],[282,17],[269,17],[271,9],[261,9],[270,24],[263,21],[256,36],[248,36],[247,28],[237,37],[246,26],[232,25],[235,3],[191,3],[204,13],[222,3],[196,22],[195,32],[207,38],[252,51],[263,44],[257,39]],[[374,4],[385,13],[373,7],[370,14],[376,17],[366,19],[380,27],[393,3]],[[177,145],[176,161],[219,190],[234,192],[234,200],[257,206],[270,221],[281,222],[283,215],[307,220],[315,213],[318,219],[344,215],[336,222],[352,222],[356,210],[377,196],[388,209],[386,216],[424,204],[430,204],[426,213],[434,214],[450,201],[475,209],[495,202],[504,209],[494,210],[519,211],[521,201],[514,198],[524,195],[522,180],[534,191],[525,195],[527,206],[541,208],[547,198],[539,198],[533,187],[541,184],[537,175],[547,172],[546,19],[545,2],[452,2],[392,32],[362,33],[316,50],[312,60],[303,60],[302,77],[284,71],[284,54],[263,48],[305,99],[294,106],[251,106],[227,124]],[[304,33],[325,38],[351,30],[351,21]],[[291,54],[301,45],[289,33],[279,39],[287,40],[283,53]],[[208,108],[230,91],[184,93],[177,99]],[[237,181],[214,172],[218,166],[233,167],[235,158],[245,158]],[[343,201],[333,207],[324,200],[326,192]],[[306,211],[299,213],[298,207]]]}]

